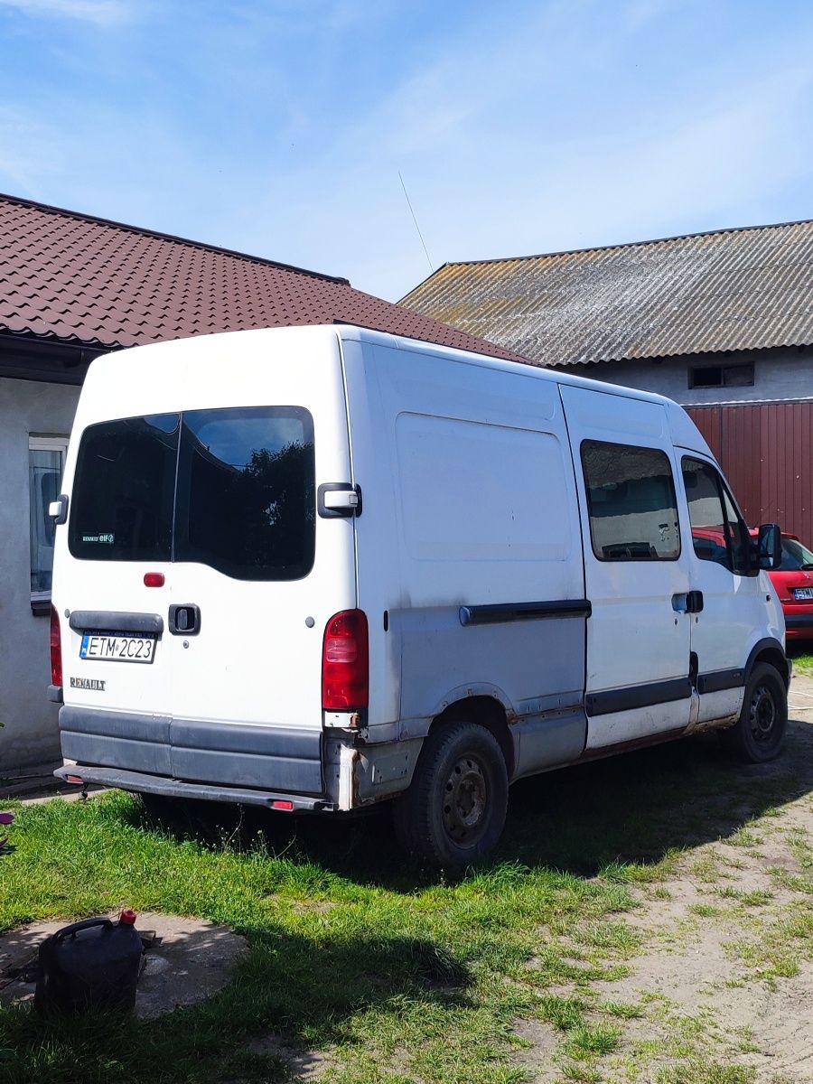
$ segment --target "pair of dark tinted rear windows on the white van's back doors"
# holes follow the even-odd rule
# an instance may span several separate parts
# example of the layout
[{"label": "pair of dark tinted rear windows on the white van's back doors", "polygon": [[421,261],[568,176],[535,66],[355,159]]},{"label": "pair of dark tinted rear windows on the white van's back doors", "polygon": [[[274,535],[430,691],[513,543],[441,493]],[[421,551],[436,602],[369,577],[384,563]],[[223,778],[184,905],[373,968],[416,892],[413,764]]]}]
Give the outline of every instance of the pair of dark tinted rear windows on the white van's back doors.
[{"label": "pair of dark tinted rear windows on the white van's back doors", "polygon": [[82,434],[68,526],[79,559],[294,580],[310,571],[314,541],[313,422],[301,408],[120,418]]}]

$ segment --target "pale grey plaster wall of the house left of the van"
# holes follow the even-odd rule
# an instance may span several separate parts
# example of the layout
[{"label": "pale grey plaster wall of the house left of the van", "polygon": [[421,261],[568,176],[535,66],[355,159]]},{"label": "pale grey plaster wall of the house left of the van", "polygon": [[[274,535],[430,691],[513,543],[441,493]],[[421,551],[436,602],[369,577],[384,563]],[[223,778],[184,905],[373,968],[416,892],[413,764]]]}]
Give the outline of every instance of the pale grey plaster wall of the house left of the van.
[{"label": "pale grey plaster wall of the house left of the van", "polygon": [[30,606],[28,437],[66,436],[79,388],[0,377],[0,777],[60,756],[50,622]]}]

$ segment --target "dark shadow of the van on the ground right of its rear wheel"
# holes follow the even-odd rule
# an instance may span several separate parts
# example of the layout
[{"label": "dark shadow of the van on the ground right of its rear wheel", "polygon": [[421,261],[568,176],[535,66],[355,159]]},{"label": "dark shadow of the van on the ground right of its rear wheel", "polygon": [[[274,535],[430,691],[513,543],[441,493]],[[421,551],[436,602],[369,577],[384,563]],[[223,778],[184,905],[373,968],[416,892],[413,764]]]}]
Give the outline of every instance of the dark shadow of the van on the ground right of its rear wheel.
[{"label": "dark shadow of the van on the ground right of its rear wheel", "polygon": [[586,877],[654,865],[812,791],[809,724],[789,722],[767,764],[734,761],[717,734],[669,741],[517,783],[501,856]]}]

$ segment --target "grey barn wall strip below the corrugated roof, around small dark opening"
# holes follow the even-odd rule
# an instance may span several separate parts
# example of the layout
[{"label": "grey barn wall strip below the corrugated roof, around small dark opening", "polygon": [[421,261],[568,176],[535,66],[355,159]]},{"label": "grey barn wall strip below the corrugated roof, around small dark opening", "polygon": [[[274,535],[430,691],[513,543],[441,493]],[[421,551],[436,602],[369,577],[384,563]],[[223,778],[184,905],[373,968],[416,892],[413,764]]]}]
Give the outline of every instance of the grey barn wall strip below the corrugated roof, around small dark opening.
[{"label": "grey barn wall strip below the corrugated roof, around small dark opening", "polygon": [[689,388],[689,364],[701,364],[697,354],[691,358],[668,358],[662,361],[599,361],[596,364],[570,365],[566,372],[588,376],[593,380],[622,384],[641,391],[669,396],[682,406],[705,403],[764,402],[771,399],[813,398],[813,351],[790,347],[787,350],[725,354],[707,354],[709,364],[736,365],[753,361],[753,386],[746,388]]}]

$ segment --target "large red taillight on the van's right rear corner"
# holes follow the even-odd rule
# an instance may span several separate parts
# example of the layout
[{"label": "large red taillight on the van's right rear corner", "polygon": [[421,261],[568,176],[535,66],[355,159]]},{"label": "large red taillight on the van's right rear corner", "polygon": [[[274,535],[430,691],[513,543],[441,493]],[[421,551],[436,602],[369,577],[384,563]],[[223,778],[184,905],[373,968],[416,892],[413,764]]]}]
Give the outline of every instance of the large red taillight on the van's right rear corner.
[{"label": "large red taillight on the van's right rear corner", "polygon": [[360,711],[370,697],[367,619],[363,610],[343,610],[327,622],[322,646],[322,708]]}]

